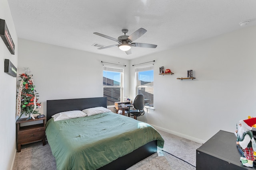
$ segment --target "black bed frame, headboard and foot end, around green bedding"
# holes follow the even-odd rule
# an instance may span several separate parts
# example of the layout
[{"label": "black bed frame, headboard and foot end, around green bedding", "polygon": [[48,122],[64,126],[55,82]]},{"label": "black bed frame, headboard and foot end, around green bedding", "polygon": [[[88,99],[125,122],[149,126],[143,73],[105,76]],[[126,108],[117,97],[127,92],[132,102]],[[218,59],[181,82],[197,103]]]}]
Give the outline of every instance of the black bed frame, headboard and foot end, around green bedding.
[{"label": "black bed frame, headboard and foot end, around green bedding", "polygon": [[[52,118],[52,115],[71,110],[83,110],[91,107],[107,107],[107,98],[80,98],[80,99],[62,99],[62,100],[47,100],[46,102],[46,119]],[[134,150],[133,152],[122,156],[113,162],[99,168],[98,170],[126,170],[130,166],[140,162],[148,156],[157,152],[157,141],[151,141],[146,145]]]}]

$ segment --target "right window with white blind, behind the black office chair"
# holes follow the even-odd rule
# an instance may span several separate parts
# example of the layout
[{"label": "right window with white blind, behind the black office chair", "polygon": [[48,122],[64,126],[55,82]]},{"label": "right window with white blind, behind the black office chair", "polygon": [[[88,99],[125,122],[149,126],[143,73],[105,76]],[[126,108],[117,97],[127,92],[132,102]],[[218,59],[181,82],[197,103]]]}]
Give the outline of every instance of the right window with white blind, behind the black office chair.
[{"label": "right window with white blind, behind the black office chair", "polygon": [[154,66],[135,69],[137,79],[137,95],[144,95],[144,105],[154,106]]}]

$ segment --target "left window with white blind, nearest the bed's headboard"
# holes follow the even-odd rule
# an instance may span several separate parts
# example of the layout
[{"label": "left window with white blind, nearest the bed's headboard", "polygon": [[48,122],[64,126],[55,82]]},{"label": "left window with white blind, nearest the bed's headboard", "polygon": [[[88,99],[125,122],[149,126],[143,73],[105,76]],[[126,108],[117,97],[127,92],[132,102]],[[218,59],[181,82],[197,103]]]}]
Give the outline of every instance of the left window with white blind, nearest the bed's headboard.
[{"label": "left window with white blind, nearest the bed's headboard", "polygon": [[124,69],[103,66],[103,96],[107,97],[107,106],[121,102],[123,96]]}]

